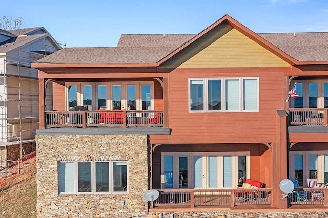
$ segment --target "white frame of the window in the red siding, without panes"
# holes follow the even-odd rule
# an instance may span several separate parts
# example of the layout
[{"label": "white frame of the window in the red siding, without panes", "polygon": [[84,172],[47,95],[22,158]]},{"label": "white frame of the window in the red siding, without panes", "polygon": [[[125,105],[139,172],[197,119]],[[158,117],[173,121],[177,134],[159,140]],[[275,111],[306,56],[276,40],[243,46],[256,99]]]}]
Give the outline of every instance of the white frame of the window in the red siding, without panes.
[{"label": "white frame of the window in the red siding, without panes", "polygon": [[[256,110],[244,110],[243,109],[243,80],[256,79],[257,81],[257,109]],[[203,110],[190,110],[190,81],[202,80],[203,81]],[[208,110],[208,81],[209,80],[221,80],[221,110]],[[226,81],[227,80],[239,80],[239,110],[227,110],[226,109]],[[218,112],[259,112],[259,77],[227,77],[227,78],[188,78],[188,111],[190,113],[218,113]]]}]

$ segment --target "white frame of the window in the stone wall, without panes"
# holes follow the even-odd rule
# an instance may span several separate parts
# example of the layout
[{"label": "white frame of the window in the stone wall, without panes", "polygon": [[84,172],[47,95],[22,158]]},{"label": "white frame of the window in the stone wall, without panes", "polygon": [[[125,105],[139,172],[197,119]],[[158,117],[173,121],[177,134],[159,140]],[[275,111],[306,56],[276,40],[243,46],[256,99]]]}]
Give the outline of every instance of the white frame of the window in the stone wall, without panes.
[{"label": "white frame of the window in the stone wall, without panes", "polygon": [[[91,192],[79,192],[78,191],[78,163],[90,163],[91,162]],[[109,163],[109,191],[96,191],[96,163],[106,162]],[[127,191],[114,191],[114,178],[113,178],[113,165],[114,162],[125,162],[127,166]],[[73,163],[74,167],[74,192],[59,192],[59,164],[60,163]],[[129,194],[129,164],[128,161],[58,161],[58,194],[69,195],[69,194]]]}]

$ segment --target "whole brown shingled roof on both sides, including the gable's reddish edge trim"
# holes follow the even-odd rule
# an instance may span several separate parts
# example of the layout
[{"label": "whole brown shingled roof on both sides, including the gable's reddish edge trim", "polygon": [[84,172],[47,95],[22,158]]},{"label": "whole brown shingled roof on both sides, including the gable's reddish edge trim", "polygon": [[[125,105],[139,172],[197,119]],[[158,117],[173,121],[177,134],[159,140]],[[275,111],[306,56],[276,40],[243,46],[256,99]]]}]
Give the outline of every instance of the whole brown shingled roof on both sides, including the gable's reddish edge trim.
[{"label": "whole brown shingled roof on both sides, including the gable's reddish edge trim", "polygon": [[283,56],[290,63],[328,61],[326,52],[328,33],[297,33],[296,36],[294,33],[256,34],[226,15],[199,34],[126,34],[121,35],[117,47],[114,48],[65,48],[35,63],[159,63],[166,60],[163,58],[169,58],[170,55],[188,46],[188,43],[192,43],[193,40],[198,40],[208,30],[212,30],[223,21],[245,32],[261,45],[264,42],[266,48],[273,48],[270,50],[280,57]]}]

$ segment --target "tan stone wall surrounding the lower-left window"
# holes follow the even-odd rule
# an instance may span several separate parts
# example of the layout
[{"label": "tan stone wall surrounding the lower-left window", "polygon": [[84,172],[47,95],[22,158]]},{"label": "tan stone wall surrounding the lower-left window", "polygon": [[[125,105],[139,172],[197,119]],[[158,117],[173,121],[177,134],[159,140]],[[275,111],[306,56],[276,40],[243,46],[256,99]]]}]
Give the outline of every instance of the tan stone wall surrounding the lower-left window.
[{"label": "tan stone wall surrounding the lower-left window", "polygon": [[[147,135],[36,136],[37,217],[146,216],[147,147]],[[128,194],[59,195],[57,161],[66,156],[128,160]]]}]

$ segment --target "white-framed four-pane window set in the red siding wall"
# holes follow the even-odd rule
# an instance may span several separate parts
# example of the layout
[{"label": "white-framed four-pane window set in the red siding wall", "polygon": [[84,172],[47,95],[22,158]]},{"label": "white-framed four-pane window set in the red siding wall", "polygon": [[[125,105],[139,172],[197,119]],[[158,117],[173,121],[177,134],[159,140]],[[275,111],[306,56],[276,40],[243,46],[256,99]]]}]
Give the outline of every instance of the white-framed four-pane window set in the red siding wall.
[{"label": "white-framed four-pane window set in the red siding wall", "polygon": [[259,111],[258,78],[189,79],[189,112]]}]

